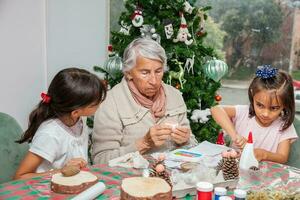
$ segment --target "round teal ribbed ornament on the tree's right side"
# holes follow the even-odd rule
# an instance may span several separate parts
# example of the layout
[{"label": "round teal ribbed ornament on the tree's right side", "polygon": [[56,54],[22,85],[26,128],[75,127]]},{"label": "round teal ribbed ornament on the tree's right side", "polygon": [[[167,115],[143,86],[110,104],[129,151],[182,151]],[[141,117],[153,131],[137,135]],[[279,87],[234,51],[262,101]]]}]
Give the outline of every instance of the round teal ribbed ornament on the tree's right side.
[{"label": "round teal ribbed ornament on the tree's right side", "polygon": [[221,80],[221,78],[228,72],[227,64],[222,60],[216,58],[209,60],[204,65],[204,73],[215,82]]}]

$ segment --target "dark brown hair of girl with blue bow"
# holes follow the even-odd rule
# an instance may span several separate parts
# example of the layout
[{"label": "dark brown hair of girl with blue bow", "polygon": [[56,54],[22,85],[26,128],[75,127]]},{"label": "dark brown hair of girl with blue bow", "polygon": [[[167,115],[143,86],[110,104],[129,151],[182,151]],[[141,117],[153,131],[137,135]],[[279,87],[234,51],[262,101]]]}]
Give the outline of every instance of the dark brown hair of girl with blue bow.
[{"label": "dark brown hair of girl with blue bow", "polygon": [[250,101],[249,117],[255,116],[253,105],[253,97],[261,90],[274,90],[277,98],[280,98],[283,104],[282,120],[284,124],[281,131],[286,130],[294,121],[295,118],[295,99],[292,77],[282,71],[278,70],[277,74],[272,78],[255,77],[248,89],[248,96]]}]

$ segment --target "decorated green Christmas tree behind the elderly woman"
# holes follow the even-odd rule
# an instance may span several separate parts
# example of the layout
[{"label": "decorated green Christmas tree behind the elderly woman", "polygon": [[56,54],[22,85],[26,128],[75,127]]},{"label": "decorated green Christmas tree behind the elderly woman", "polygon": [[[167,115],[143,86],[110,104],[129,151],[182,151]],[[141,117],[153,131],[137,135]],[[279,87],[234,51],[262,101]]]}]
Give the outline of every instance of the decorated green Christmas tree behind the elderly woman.
[{"label": "decorated green Christmas tree behind the elderly woman", "polygon": [[203,43],[209,34],[204,25],[210,7],[193,7],[193,2],[185,0],[127,0],[125,8],[119,18],[121,30],[111,32],[114,53],[104,67],[94,69],[104,72],[113,87],[122,78],[119,55],[132,40],[147,37],[159,42],[168,57],[164,82],[182,92],[197,140],[215,143],[219,126],[208,109],[221,100],[216,91],[227,65],[214,59],[215,50]]}]

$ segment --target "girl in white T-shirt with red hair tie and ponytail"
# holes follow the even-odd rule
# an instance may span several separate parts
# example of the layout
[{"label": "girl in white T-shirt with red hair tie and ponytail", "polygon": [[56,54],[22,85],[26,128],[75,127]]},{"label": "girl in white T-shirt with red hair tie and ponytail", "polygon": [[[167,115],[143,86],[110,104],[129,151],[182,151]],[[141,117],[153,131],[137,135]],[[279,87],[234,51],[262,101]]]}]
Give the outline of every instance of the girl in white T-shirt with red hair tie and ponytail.
[{"label": "girl in white T-shirt with red hair tie and ponytail", "polygon": [[16,142],[29,142],[15,179],[59,172],[68,165],[85,167],[88,160],[86,118],[105,99],[106,87],[94,74],[68,68],[52,80],[48,92],[29,116],[29,127]]}]

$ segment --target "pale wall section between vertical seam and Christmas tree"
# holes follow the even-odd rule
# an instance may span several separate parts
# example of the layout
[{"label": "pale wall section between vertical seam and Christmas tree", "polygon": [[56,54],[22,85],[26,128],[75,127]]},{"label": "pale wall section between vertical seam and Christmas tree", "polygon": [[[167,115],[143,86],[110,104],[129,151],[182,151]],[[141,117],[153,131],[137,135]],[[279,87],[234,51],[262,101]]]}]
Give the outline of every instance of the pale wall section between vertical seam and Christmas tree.
[{"label": "pale wall section between vertical seam and Christmas tree", "polygon": [[108,45],[108,1],[47,1],[48,78],[64,67],[103,64]]}]

